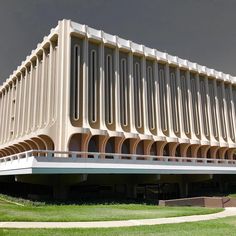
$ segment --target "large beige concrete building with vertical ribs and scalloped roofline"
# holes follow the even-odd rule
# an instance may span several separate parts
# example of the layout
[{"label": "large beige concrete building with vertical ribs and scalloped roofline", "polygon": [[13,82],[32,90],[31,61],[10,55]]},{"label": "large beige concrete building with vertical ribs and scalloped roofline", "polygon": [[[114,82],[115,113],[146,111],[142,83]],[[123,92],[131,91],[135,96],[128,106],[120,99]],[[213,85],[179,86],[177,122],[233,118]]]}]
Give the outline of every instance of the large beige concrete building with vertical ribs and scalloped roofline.
[{"label": "large beige concrete building with vertical ribs and scalloped roofline", "polygon": [[235,112],[236,77],[62,20],[0,87],[0,175],[234,174]]}]

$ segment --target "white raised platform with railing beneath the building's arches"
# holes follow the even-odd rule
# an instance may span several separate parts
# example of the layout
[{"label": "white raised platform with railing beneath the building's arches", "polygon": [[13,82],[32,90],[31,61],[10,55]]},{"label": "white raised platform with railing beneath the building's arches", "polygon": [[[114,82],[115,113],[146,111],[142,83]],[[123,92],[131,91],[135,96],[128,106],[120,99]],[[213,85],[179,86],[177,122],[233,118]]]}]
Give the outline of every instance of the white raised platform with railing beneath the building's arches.
[{"label": "white raised platform with railing beneath the building's arches", "polygon": [[236,174],[236,161],[39,150],[0,158],[0,175],[76,173]]}]

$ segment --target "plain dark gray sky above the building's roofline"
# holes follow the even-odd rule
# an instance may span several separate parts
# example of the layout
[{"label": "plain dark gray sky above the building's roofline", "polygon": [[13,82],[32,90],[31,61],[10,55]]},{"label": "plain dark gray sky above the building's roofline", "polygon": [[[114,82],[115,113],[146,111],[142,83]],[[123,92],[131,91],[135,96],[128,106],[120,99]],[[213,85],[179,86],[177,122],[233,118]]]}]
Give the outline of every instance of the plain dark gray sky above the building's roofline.
[{"label": "plain dark gray sky above the building's roofline", "polygon": [[0,0],[0,83],[63,18],[236,75],[236,0]]}]

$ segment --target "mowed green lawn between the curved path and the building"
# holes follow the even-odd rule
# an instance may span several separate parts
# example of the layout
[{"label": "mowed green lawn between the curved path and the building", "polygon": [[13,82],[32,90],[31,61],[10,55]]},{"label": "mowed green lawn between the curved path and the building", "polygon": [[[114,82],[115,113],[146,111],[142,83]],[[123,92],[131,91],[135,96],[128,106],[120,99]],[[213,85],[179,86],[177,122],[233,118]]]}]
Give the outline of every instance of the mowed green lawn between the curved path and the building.
[{"label": "mowed green lawn between the curved path and the building", "polygon": [[0,221],[108,221],[199,215],[222,209],[158,207],[145,204],[30,205],[0,200]]}]

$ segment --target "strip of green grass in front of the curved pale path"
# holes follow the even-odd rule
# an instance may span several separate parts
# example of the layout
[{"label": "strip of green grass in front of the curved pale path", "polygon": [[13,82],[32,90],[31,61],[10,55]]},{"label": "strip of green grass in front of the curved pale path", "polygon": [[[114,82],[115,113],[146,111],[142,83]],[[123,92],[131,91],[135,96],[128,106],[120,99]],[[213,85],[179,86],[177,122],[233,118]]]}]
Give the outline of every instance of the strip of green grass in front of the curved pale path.
[{"label": "strip of green grass in front of the curved pale path", "polygon": [[235,236],[236,217],[157,226],[120,227],[107,229],[0,229],[4,236]]}]

